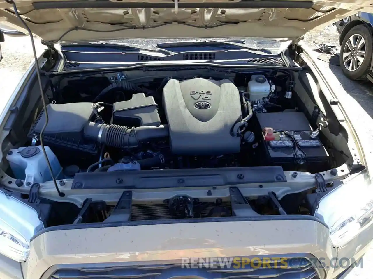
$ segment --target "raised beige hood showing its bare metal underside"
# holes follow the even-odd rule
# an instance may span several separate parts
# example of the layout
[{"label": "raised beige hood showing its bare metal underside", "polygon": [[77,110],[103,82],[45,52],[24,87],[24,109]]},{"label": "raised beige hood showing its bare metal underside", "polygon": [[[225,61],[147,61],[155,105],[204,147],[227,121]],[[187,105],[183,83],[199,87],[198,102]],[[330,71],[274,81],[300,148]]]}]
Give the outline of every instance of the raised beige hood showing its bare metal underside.
[{"label": "raised beige hood showing its bare metal underside", "polygon": [[[373,12],[373,0],[14,1],[31,31],[49,43],[123,38],[297,39],[356,11]],[[0,0],[0,9],[0,21],[25,31],[11,3]]]}]

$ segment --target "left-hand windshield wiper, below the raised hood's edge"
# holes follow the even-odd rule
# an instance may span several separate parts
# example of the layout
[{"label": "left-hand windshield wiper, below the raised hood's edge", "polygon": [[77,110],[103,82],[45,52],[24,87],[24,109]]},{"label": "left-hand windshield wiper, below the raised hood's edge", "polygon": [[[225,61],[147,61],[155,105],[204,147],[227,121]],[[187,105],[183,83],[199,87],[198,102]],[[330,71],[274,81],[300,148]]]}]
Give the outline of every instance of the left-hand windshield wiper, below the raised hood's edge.
[{"label": "left-hand windshield wiper, below the raised hood's edge", "polygon": [[98,48],[117,48],[121,50],[128,50],[128,51],[134,51],[134,50],[145,50],[150,52],[158,52],[162,53],[164,55],[171,55],[175,54],[175,52],[168,51],[166,49],[162,49],[159,47],[150,47],[145,45],[137,45],[137,44],[129,44],[129,43],[120,43],[120,42],[89,42],[84,44],[74,44],[74,45],[66,45],[66,47],[98,47]]}]

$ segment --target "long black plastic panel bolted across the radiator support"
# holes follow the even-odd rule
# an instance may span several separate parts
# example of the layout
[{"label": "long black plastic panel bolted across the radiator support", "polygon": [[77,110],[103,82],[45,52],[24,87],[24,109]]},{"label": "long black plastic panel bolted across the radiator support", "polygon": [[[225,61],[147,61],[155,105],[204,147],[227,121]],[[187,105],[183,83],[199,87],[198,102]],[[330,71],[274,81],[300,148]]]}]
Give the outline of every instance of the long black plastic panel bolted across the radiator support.
[{"label": "long black plastic panel bolted across the radiator support", "polygon": [[71,189],[160,189],[285,181],[280,166],[113,171],[77,173]]}]

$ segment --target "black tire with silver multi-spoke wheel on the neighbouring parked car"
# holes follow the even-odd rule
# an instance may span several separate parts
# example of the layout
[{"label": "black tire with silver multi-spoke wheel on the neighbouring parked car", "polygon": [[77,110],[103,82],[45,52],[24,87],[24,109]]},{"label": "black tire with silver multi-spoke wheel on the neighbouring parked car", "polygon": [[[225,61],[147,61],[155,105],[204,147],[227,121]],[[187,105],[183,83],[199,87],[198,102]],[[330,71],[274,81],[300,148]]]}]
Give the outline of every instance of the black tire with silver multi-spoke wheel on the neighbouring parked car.
[{"label": "black tire with silver multi-spoke wheel on the neighbouring parked car", "polygon": [[370,29],[365,25],[351,28],[342,41],[339,54],[342,72],[351,80],[365,79],[370,70],[372,54],[373,39]]}]

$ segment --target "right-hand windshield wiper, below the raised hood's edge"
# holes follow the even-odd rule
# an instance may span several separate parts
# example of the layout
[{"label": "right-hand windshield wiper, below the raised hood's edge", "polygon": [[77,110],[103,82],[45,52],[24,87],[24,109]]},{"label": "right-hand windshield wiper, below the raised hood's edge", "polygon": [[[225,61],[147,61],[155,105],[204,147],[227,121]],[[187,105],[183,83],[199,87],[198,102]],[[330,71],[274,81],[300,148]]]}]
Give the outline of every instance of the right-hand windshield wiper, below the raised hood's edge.
[{"label": "right-hand windshield wiper, below the raised hood's edge", "polygon": [[[207,45],[214,46],[214,47],[222,47],[225,48],[229,46],[236,46],[238,48],[243,48],[250,50],[252,52],[259,53],[265,53],[265,54],[272,54],[272,52],[269,49],[266,48],[251,48],[248,47],[245,44],[245,41],[241,40],[194,40],[194,41],[179,41],[179,42],[166,42],[162,44],[157,44],[156,47],[159,48],[167,48],[167,47],[189,47],[189,46],[195,46],[195,47],[206,47]],[[229,48],[231,49],[231,48]]]}]

